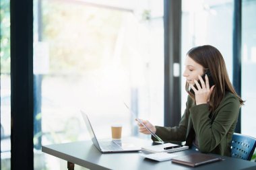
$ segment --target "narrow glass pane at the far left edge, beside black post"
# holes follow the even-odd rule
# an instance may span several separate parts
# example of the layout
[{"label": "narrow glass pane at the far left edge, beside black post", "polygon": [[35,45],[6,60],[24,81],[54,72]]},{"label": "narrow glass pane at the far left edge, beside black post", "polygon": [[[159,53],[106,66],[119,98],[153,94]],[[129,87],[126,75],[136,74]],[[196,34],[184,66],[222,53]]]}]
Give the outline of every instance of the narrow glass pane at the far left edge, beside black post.
[{"label": "narrow glass pane at the far left edge, beside black post", "polygon": [[11,169],[11,82],[9,0],[1,1],[1,167]]}]

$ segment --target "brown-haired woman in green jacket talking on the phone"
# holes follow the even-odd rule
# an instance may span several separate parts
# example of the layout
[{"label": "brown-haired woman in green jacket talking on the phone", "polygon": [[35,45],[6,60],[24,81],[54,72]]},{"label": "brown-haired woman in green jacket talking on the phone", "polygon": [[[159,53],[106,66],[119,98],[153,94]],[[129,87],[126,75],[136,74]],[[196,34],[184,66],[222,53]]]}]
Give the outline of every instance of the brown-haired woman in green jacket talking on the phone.
[{"label": "brown-haired woman in green jacket talking on the phone", "polygon": [[[212,87],[207,75],[201,77],[206,71],[214,81]],[[187,79],[185,87],[189,95],[179,126],[161,127],[153,126],[148,120],[142,122],[164,141],[186,141],[186,145],[196,147],[202,153],[230,157],[230,142],[244,101],[230,83],[222,54],[214,46],[192,48],[187,52],[183,76]],[[138,125],[139,132],[150,134]]]}]

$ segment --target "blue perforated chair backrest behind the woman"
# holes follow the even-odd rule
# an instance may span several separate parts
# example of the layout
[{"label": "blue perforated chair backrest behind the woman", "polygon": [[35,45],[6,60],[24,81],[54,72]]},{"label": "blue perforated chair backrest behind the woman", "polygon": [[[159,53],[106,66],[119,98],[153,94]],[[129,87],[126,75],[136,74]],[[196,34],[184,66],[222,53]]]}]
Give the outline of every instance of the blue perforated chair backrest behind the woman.
[{"label": "blue perforated chair backrest behind the woman", "polygon": [[231,157],[251,161],[256,146],[256,138],[234,133],[231,141]]}]

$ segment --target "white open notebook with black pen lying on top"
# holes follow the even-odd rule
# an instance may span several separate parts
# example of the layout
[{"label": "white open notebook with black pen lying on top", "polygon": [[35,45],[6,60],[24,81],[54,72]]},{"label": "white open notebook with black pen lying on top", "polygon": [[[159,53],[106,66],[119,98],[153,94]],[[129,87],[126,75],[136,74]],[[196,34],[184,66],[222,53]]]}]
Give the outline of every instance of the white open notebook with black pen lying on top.
[{"label": "white open notebook with black pen lying on top", "polygon": [[152,146],[143,146],[141,147],[142,153],[150,154],[150,153],[173,153],[177,151],[183,151],[188,149],[189,146],[183,146],[179,144],[173,143],[165,143],[165,144],[158,144]]}]

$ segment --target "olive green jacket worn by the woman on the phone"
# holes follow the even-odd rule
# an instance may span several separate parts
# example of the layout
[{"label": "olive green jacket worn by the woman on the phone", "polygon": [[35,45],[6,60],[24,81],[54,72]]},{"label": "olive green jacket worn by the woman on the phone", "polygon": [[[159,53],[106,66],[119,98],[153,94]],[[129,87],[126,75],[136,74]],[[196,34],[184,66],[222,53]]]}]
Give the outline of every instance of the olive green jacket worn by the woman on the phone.
[{"label": "olive green jacket worn by the woman on the phone", "polygon": [[[195,105],[190,96],[179,126],[156,126],[156,134],[164,141],[183,142],[191,146],[195,136],[201,153],[230,157],[230,142],[239,114],[238,97],[226,92],[219,107],[210,113],[207,104]],[[153,140],[156,140],[152,137]]]}]

